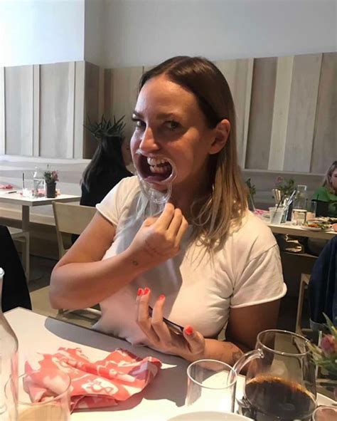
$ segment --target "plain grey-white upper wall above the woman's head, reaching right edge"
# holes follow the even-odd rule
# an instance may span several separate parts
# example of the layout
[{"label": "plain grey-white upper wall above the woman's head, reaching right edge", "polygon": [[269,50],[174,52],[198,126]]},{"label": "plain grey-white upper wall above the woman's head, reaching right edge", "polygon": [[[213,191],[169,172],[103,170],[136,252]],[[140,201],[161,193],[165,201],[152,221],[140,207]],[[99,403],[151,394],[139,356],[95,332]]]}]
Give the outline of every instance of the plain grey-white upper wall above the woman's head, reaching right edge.
[{"label": "plain grey-white upper wall above the woman's head, reaching right edge", "polygon": [[105,66],[336,51],[334,0],[105,0]]}]

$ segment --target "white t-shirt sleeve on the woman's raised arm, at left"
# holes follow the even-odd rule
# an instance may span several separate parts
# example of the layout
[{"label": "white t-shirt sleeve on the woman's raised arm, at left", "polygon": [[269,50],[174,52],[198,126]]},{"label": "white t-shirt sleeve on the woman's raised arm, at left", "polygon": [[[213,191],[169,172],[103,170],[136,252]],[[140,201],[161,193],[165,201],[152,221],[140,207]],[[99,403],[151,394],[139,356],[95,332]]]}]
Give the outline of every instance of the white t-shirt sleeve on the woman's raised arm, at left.
[{"label": "white t-shirt sleeve on the woman's raised arm, at left", "polygon": [[102,202],[97,203],[96,209],[103,217],[117,227],[129,194],[134,190],[134,177],[127,177],[116,184],[105,196]]}]

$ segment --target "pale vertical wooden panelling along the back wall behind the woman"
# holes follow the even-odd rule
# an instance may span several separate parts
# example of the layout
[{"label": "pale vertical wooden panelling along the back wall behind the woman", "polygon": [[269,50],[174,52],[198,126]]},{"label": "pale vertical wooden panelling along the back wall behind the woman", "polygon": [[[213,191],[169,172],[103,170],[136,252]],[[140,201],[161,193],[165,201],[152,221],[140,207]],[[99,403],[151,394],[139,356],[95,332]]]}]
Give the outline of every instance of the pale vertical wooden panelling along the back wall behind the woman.
[{"label": "pale vertical wooden panelling along the back wall behind the woman", "polygon": [[[248,170],[322,174],[337,159],[337,53],[217,61],[237,112],[237,149]],[[126,136],[139,78],[151,66],[91,63],[0,68],[0,154],[92,157],[83,129],[125,115]]]}]

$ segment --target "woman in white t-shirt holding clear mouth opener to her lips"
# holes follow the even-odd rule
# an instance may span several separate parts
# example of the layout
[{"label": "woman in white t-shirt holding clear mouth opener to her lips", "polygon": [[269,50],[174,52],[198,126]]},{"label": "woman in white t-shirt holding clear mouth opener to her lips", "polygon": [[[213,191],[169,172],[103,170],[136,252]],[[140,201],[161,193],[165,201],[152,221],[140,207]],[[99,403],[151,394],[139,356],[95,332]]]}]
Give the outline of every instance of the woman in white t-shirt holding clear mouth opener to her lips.
[{"label": "woman in white t-shirt holding clear mouth opener to her lips", "polygon": [[[204,58],[171,58],[141,77],[133,119],[139,179],[122,180],[97,205],[55,266],[51,303],[100,302],[101,331],[190,361],[235,363],[275,327],[286,287],[272,233],[247,212],[228,83]],[[144,220],[139,180],[169,195],[159,216]]]}]

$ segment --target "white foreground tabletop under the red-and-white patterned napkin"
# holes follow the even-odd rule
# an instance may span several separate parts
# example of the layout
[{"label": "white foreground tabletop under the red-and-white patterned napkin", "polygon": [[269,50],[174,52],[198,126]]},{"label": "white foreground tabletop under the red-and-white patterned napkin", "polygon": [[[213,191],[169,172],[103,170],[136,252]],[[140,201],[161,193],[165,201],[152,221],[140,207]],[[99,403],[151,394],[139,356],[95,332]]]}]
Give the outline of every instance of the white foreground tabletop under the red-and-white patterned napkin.
[{"label": "white foreground tabletop under the red-and-white patterned napkin", "polygon": [[[141,358],[153,356],[163,363],[156,378],[139,394],[126,402],[105,410],[74,412],[71,421],[167,421],[184,412],[188,362],[182,358],[158,353],[146,347],[132,347],[126,341],[46,318],[24,308],[15,308],[5,316],[18,337],[18,372],[23,373],[24,361],[33,353],[55,353],[60,346],[80,347],[92,360],[105,358],[115,348],[124,348]],[[237,379],[237,396],[242,395],[244,377]],[[320,405],[331,405],[328,397],[319,396]],[[205,402],[205,410],[211,410]]]}]

